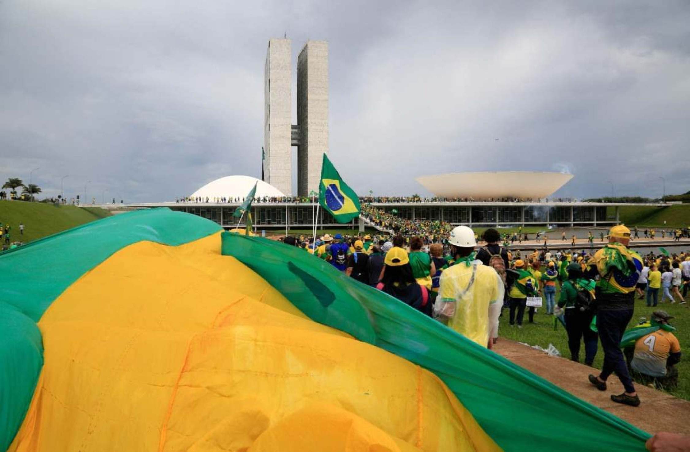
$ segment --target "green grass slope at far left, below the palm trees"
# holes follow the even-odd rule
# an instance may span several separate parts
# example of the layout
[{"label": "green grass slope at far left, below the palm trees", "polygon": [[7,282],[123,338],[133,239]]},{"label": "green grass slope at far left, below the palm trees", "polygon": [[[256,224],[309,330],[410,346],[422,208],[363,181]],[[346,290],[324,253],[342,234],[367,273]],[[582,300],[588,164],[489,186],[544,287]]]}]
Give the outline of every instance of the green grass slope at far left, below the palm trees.
[{"label": "green grass slope at far left, below the palm trees", "polygon": [[[42,202],[0,201],[0,222],[9,224],[10,240],[27,243],[32,240],[74,228],[95,219],[108,217],[110,212],[97,207],[55,206]],[[19,223],[24,235],[19,235]]]}]

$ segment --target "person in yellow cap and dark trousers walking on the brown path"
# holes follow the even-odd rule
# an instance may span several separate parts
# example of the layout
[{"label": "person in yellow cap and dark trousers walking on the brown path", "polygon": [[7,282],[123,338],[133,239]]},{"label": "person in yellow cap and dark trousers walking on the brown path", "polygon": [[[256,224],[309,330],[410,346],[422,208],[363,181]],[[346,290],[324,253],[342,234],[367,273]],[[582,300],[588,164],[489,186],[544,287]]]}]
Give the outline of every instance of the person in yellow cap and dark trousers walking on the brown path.
[{"label": "person in yellow cap and dark trousers walking on the brown path", "polygon": [[589,260],[584,277],[599,277],[595,288],[597,329],[604,350],[604,365],[599,375],[589,375],[589,382],[600,391],[606,391],[606,382],[615,374],[623,384],[624,392],[611,395],[616,403],[639,406],[628,366],[620,350],[620,340],[633,318],[635,284],[640,279],[642,257],[628,248],[630,230],[623,225],[609,230],[609,244],[598,250]]}]

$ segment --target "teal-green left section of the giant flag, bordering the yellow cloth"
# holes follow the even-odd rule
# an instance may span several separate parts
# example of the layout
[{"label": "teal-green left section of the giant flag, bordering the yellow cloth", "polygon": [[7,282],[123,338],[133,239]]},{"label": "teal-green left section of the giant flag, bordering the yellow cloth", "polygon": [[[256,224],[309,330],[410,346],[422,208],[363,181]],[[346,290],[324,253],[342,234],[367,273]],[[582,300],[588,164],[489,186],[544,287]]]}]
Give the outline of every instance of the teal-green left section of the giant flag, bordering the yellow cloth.
[{"label": "teal-green left section of the giant flag, bordering the yellow cloth", "polygon": [[43,366],[36,323],[48,306],[125,246],[142,240],[179,245],[219,230],[207,219],[168,208],[136,210],[0,253],[0,450],[12,442],[31,402]]}]

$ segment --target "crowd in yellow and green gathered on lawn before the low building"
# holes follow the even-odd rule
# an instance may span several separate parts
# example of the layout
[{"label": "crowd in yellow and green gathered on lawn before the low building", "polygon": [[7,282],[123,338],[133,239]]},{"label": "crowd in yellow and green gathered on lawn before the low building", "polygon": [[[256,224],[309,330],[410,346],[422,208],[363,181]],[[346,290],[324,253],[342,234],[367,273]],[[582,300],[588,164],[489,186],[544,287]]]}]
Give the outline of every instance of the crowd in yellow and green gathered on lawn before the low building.
[{"label": "crowd in yellow and green gathered on lawn before the low building", "polygon": [[[393,222],[388,217],[377,221]],[[606,246],[594,253],[546,248],[524,256],[502,246],[504,237],[493,228],[484,231],[484,246],[467,226],[434,240],[420,235],[426,230],[419,227],[411,231],[417,235],[403,230],[375,237],[326,234],[314,243],[311,237],[284,237],[284,242],[487,348],[497,340],[504,310],[509,325],[522,328],[525,314],[534,322],[533,302],[539,299],[537,306],[564,324],[571,360],[580,362],[584,344],[584,364],[591,366],[601,345],[604,365],[589,382],[603,391],[615,373],[624,393],[612,395],[614,402],[640,404],[633,377],[664,388],[678,384],[680,344],[669,324],[671,315],[654,311],[649,322],[633,328],[635,340],[624,350],[621,340],[633,316],[635,293],[646,297],[650,307],[667,298],[673,303],[673,297],[684,303],[690,290],[690,253],[642,257],[628,248],[631,231],[622,225],[611,228]],[[665,296],[657,302],[654,293],[660,288]]]}]

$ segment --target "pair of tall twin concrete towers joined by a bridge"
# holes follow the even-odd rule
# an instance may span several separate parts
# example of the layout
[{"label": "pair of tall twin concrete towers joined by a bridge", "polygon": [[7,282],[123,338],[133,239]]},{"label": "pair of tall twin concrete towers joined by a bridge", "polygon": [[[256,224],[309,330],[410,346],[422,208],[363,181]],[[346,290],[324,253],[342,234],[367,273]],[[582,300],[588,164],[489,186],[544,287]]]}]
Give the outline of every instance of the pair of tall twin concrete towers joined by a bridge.
[{"label": "pair of tall twin concrete towers joined by a bridge", "polygon": [[266,52],[264,179],[293,196],[292,146],[297,146],[297,195],[319,191],[328,153],[328,43],[307,41],[297,57],[297,125],[292,121],[290,39],[270,39]]}]

